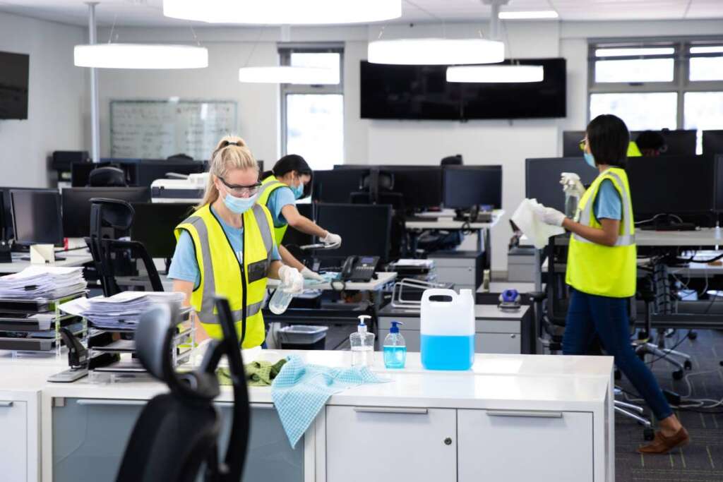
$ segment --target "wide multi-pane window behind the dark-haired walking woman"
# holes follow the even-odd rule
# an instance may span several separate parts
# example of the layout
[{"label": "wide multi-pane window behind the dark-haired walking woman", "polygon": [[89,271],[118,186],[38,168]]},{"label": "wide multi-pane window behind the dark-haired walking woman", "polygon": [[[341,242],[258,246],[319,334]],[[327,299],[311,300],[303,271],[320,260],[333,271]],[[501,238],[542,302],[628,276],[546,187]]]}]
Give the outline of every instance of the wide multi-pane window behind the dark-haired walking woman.
[{"label": "wide multi-pane window behind the dark-haired walking woman", "polygon": [[[630,130],[723,129],[723,39],[589,45],[589,116]],[[700,153],[700,142],[698,143]]]}]

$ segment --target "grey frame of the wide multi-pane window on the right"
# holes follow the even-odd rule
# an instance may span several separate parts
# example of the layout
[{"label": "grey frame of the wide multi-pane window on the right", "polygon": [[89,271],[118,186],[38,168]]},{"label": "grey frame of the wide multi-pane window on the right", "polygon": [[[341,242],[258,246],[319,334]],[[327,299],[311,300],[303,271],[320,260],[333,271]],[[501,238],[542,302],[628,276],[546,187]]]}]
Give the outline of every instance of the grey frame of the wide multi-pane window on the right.
[{"label": "grey frame of the wide multi-pane window on the right", "polygon": [[[690,80],[691,57],[714,57],[720,53],[690,53],[690,47],[697,46],[723,46],[723,37],[685,37],[685,38],[591,38],[588,40],[588,95],[586,119],[590,119],[590,106],[594,94],[632,94],[652,92],[676,92],[677,111],[676,129],[685,126],[685,93],[686,92],[718,92],[723,91],[721,80]],[[611,56],[596,57],[595,51],[599,48],[655,48],[672,47],[671,54],[637,55],[637,56]],[[627,60],[627,59],[673,59],[672,82],[595,82],[595,62],[599,60]]]}]

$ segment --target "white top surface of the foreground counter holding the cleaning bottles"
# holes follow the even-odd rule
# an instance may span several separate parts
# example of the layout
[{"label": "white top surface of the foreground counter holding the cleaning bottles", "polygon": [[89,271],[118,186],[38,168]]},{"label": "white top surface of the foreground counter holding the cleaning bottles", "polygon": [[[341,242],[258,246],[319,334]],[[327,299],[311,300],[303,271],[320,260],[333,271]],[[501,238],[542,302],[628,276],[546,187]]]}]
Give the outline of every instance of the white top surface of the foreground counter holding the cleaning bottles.
[{"label": "white top surface of the foreground counter holding the cleaning bottles", "polygon": [[[194,357],[200,361],[202,349]],[[255,350],[252,359],[275,361],[296,353],[308,363],[349,366],[348,351]],[[383,354],[375,352],[372,371],[392,383],[369,384],[345,390],[330,405],[420,406],[453,408],[502,408],[539,410],[594,410],[604,402],[612,376],[612,358],[594,356],[487,355],[477,354],[469,371],[428,371],[419,353],[407,354],[407,367],[387,370]],[[45,382],[49,374],[67,367],[67,358],[9,358],[0,356],[3,391],[42,391],[48,397],[117,398],[148,400],[167,392],[164,384],[150,379],[91,384],[87,377],[70,384]],[[252,403],[271,403],[268,387],[250,387]],[[219,401],[233,400],[223,387]],[[400,405],[402,404],[402,405]]]}]

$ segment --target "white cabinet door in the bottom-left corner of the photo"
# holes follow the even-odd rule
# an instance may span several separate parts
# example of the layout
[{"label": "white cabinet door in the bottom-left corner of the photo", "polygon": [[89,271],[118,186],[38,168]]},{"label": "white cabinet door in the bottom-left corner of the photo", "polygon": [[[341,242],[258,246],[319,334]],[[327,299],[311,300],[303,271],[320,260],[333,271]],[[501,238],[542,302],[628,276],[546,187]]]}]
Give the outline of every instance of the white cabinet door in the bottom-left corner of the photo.
[{"label": "white cabinet door in the bottom-left corner of the photo", "polygon": [[27,403],[0,400],[0,470],[3,481],[27,481]]}]

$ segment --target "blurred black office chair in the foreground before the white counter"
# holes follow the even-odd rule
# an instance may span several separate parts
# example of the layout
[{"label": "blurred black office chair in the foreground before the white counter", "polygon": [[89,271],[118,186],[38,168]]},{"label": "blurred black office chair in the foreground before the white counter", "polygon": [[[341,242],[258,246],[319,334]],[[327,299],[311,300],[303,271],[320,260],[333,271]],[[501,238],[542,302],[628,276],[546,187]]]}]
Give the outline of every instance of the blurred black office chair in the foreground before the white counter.
[{"label": "blurred black office chair in the foreground before the white counter", "polygon": [[[140,362],[170,392],[156,395],[143,408],[126,447],[116,482],[192,482],[205,462],[203,480],[238,482],[244,473],[251,408],[231,309],[215,298],[223,340],[212,340],[195,371],[177,373],[171,361],[175,309],[155,306],[140,319],[136,349]],[[234,390],[231,434],[219,460],[221,415],[213,406],[220,389],[216,368],[226,356]]]}]

